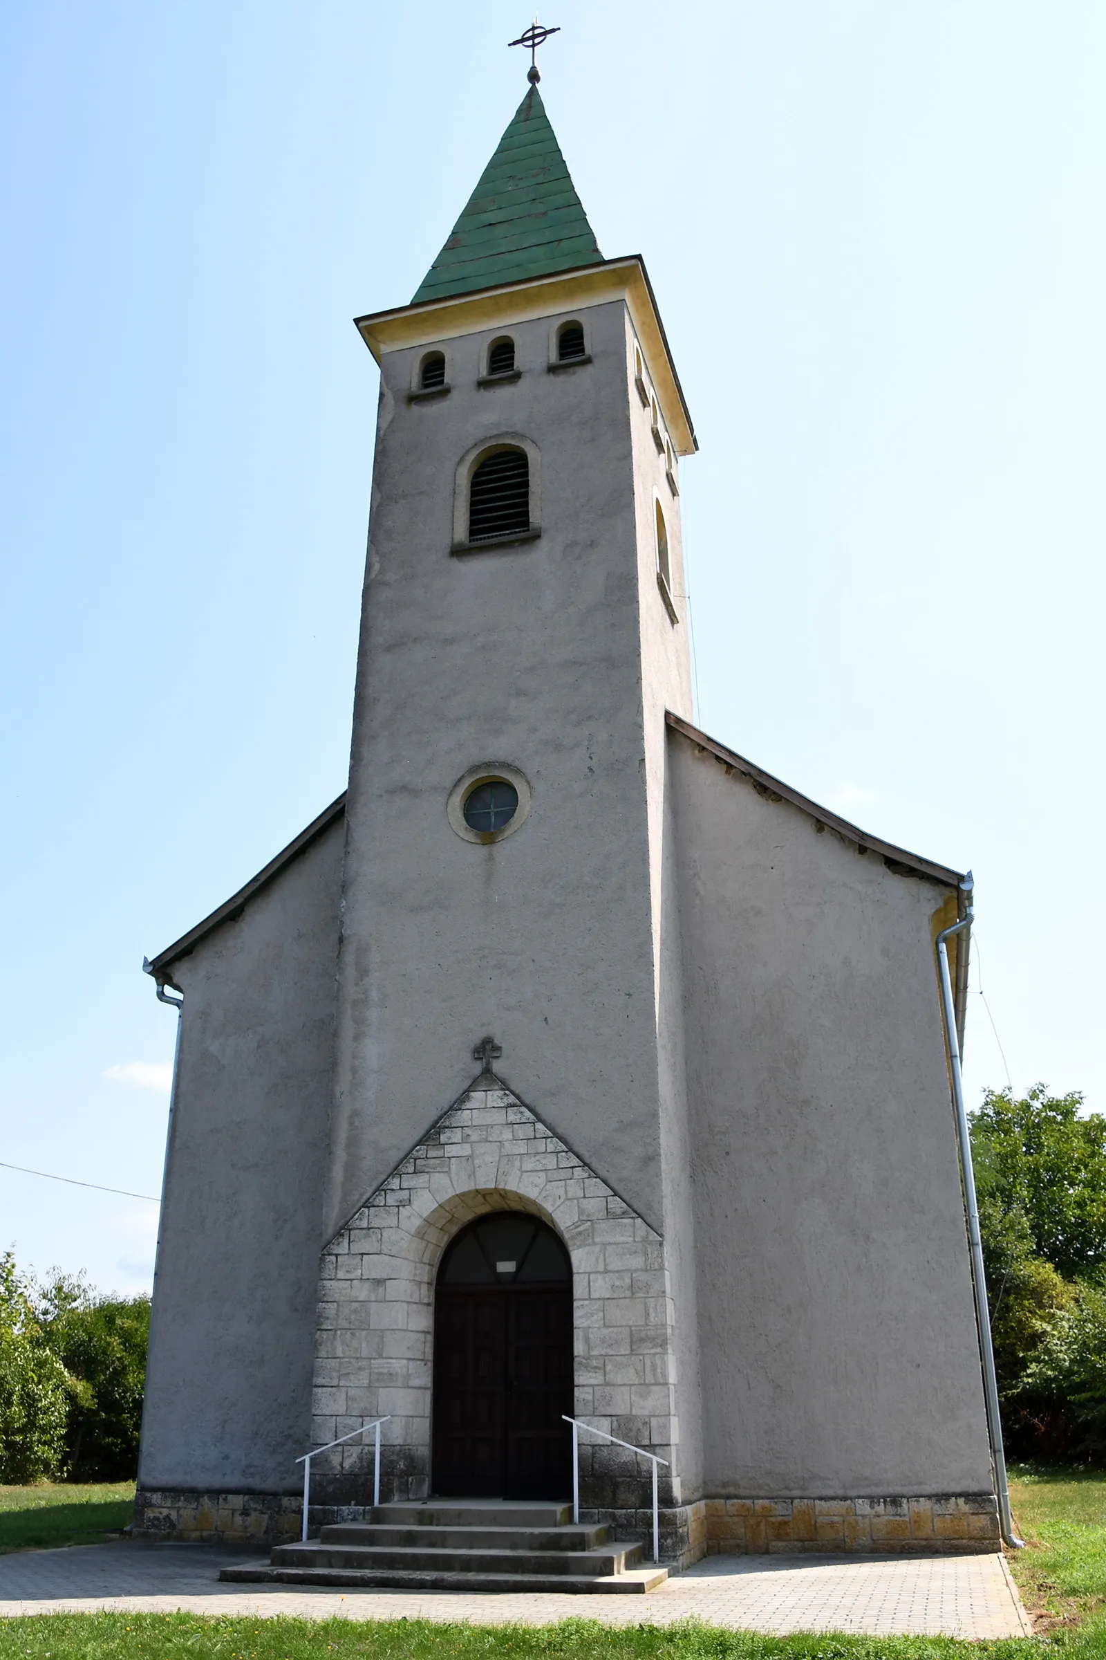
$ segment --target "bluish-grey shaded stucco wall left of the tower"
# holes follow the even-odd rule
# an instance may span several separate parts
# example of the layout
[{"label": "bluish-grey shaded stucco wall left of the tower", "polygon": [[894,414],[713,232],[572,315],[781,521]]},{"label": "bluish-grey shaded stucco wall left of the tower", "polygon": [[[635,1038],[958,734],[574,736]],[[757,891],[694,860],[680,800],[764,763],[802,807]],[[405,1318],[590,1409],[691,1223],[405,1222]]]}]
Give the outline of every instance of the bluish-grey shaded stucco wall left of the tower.
[{"label": "bluish-grey shaded stucco wall left of the tower", "polygon": [[[174,964],[184,989],[143,1487],[293,1491],[310,1431],[343,820]],[[166,1019],[169,1014],[166,1013]]]}]

